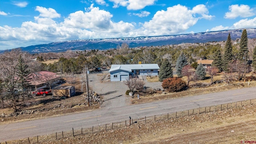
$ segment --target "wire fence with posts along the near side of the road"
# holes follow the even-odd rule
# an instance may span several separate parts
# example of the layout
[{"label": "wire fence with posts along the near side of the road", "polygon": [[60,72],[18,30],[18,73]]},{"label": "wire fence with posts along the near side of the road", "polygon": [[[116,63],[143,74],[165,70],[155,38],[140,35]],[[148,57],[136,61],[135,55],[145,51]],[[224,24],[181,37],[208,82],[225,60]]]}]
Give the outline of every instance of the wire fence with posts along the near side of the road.
[{"label": "wire fence with posts along the near side of the road", "polygon": [[232,110],[233,108],[243,108],[245,106],[252,106],[256,103],[256,99],[252,100],[244,100],[239,102],[230,102],[227,104],[220,104],[215,106],[206,106],[206,107],[198,107],[195,109],[190,110],[182,110],[179,112],[172,112],[167,114],[160,114],[160,115],[154,115],[150,117],[141,117],[141,118],[130,118],[128,120],[120,121],[120,122],[112,122],[109,124],[104,125],[98,125],[98,126],[92,126],[92,128],[81,128],[79,130],[72,130],[70,131],[62,131],[62,132],[56,132],[50,135],[44,135],[44,136],[36,136],[36,137],[28,137],[20,140],[12,140],[9,142],[0,142],[0,144],[42,144],[49,141],[54,140],[60,140],[60,139],[66,139],[74,136],[83,136],[86,134],[93,134],[97,132],[103,132],[107,130],[115,130],[118,128],[125,128],[128,126],[133,126],[136,124],[141,123],[150,123],[150,122],[157,122],[162,120],[170,120],[170,119],[176,119],[183,116],[193,116],[196,114],[206,114],[209,112],[216,112],[216,111],[222,111],[222,110]]}]

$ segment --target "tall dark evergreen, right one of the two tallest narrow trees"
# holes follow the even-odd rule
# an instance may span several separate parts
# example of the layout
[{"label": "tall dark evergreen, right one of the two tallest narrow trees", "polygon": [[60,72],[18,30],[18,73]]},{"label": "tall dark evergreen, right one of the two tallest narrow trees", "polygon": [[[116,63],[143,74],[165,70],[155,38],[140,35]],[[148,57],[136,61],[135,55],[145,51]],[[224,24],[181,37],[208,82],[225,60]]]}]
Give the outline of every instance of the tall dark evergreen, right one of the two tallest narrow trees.
[{"label": "tall dark evergreen, right one of the two tallest narrow trees", "polygon": [[248,38],[247,38],[246,29],[243,30],[243,33],[241,36],[238,59],[240,61],[247,61],[248,59]]}]

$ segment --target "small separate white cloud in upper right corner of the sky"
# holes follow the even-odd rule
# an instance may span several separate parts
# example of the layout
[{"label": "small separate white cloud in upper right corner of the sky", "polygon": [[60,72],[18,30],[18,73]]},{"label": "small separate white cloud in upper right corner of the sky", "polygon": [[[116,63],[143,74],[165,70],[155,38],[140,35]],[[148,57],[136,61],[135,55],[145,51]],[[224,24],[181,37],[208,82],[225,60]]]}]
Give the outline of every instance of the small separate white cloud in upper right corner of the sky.
[{"label": "small separate white cloud in upper right corner of the sky", "polygon": [[240,6],[238,6],[238,4],[231,5],[228,7],[228,9],[230,10],[230,12],[226,12],[224,16],[224,18],[227,19],[235,19],[239,16],[242,18],[246,18],[255,15],[253,9],[250,8],[250,6],[244,4],[241,4]]}]

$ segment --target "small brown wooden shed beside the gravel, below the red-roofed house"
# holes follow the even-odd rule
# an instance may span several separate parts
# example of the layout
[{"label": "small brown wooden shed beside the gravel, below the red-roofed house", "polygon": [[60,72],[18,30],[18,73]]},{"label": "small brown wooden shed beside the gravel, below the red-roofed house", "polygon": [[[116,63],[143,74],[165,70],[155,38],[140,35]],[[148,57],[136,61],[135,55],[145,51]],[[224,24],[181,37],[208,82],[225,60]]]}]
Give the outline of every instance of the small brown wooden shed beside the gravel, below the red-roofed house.
[{"label": "small brown wooden shed beside the gravel, below the red-roofed house", "polygon": [[53,96],[71,97],[76,94],[75,86],[58,86],[52,89]]}]

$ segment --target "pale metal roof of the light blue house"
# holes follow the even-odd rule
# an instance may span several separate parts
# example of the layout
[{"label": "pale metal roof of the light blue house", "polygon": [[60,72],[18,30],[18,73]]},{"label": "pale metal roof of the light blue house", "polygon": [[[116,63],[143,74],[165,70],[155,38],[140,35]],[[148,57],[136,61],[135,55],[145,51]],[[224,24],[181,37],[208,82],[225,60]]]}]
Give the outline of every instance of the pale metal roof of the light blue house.
[{"label": "pale metal roof of the light blue house", "polygon": [[145,69],[160,69],[158,64],[112,64],[109,72],[115,70],[125,70],[132,72],[132,70],[145,70]]}]

